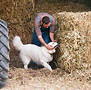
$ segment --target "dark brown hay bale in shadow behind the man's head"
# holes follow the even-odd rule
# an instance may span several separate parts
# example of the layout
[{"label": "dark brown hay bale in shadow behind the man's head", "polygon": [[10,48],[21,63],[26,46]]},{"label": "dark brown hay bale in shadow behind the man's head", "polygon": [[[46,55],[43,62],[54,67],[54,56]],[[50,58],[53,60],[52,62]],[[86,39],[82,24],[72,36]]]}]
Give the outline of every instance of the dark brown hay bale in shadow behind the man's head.
[{"label": "dark brown hay bale in shadow behind the man's head", "polygon": [[87,12],[91,10],[91,8],[88,7],[89,5],[87,5],[89,4],[87,1],[89,0],[36,0],[35,7],[37,13],[47,12],[51,15],[64,11]]}]

